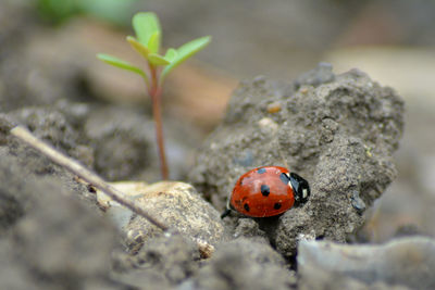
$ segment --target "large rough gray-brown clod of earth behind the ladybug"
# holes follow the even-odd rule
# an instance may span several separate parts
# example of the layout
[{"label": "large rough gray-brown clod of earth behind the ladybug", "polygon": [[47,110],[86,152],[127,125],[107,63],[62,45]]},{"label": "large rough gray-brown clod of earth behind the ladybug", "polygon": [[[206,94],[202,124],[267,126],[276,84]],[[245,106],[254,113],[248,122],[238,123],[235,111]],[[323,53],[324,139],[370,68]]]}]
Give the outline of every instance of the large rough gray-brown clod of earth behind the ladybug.
[{"label": "large rough gray-brown clod of earth behind the ladybug", "polygon": [[353,70],[327,64],[294,84],[243,83],[223,124],[206,141],[189,178],[220,210],[237,178],[263,165],[304,177],[311,199],[260,227],[284,255],[300,238],[346,241],[362,213],[396,176],[391,154],[403,127],[403,102]]}]

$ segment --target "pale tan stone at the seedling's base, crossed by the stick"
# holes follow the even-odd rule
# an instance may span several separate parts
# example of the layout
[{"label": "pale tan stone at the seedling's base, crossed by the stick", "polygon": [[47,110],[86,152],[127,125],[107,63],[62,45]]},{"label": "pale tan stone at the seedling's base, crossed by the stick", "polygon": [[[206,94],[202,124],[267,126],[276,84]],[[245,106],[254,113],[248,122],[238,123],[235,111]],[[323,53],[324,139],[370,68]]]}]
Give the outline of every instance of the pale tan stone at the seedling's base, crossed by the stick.
[{"label": "pale tan stone at the seedling's base, crossed by the stick", "polygon": [[[196,242],[216,244],[227,238],[219,212],[188,184],[161,181],[150,185],[135,198],[135,202],[161,223]],[[124,230],[130,249],[161,234],[159,228],[136,215]]]}]

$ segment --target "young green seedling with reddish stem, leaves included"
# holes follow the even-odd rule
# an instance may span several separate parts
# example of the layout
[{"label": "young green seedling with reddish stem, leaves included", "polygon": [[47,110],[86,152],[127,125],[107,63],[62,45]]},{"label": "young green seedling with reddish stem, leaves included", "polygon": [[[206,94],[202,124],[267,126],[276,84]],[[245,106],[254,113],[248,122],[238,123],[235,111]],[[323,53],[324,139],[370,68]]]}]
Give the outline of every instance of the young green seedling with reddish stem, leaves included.
[{"label": "young green seedling with reddish stem, leaves included", "polygon": [[210,43],[211,37],[206,36],[191,40],[178,49],[170,48],[165,54],[160,54],[162,30],[158,16],[152,12],[140,12],[133,16],[133,28],[136,37],[127,36],[126,40],[148,64],[148,70],[142,70],[126,61],[108,54],[97,54],[97,58],[113,66],[140,75],[147,85],[148,94],[152,101],[152,114],[156,125],[157,142],[161,164],[162,178],[167,179],[169,169],[164,152],[161,93],[167,75],[184,61],[202,50]]}]

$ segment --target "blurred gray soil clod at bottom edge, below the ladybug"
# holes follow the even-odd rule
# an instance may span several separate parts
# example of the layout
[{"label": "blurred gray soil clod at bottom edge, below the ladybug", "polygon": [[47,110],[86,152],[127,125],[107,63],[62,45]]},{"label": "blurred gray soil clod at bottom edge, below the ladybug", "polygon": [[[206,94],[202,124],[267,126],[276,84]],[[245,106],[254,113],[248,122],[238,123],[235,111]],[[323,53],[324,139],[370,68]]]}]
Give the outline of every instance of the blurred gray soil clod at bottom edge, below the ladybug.
[{"label": "blurred gray soil clod at bottom edge, below the ladybug", "polygon": [[288,289],[296,277],[285,265],[268,243],[239,238],[221,244],[208,264],[178,289]]}]

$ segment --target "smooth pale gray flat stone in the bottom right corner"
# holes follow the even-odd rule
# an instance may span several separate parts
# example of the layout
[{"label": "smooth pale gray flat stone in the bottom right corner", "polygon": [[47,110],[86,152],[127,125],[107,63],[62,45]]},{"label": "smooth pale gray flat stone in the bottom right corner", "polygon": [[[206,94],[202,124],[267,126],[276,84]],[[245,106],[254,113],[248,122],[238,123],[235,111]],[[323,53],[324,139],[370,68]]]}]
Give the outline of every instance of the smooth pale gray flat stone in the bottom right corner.
[{"label": "smooth pale gray flat stone in the bottom right corner", "polygon": [[297,260],[301,285],[313,279],[331,283],[351,278],[369,286],[381,282],[410,289],[435,288],[435,240],[426,237],[377,245],[301,241]]}]

